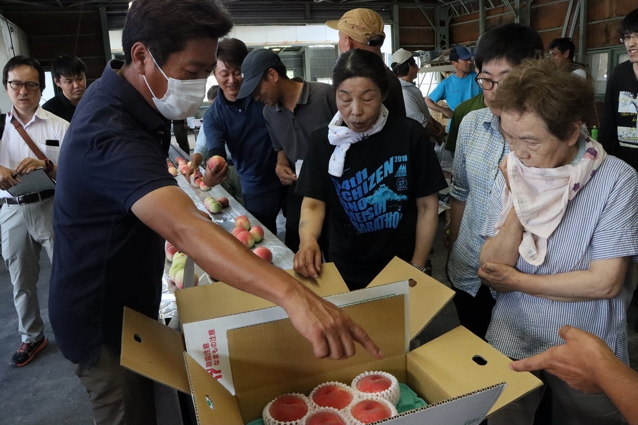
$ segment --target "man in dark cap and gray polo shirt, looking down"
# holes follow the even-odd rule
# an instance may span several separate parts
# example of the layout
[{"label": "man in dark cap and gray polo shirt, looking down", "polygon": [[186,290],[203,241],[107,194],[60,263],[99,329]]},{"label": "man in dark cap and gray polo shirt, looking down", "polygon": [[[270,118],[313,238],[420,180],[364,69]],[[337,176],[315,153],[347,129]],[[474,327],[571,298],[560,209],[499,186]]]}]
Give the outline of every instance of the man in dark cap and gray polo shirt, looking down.
[{"label": "man in dark cap and gray polo shirt, looking down", "polygon": [[[241,70],[243,82],[237,97],[252,94],[255,100],[265,103],[263,117],[277,152],[275,172],[281,183],[288,186],[284,242],[296,253],[303,200],[295,193],[296,168],[306,156],[310,133],[328,123],[337,112],[334,90],[329,84],[288,78],[279,55],[264,48],[251,51],[242,62]],[[319,244],[327,254],[327,238],[320,239]]]}]

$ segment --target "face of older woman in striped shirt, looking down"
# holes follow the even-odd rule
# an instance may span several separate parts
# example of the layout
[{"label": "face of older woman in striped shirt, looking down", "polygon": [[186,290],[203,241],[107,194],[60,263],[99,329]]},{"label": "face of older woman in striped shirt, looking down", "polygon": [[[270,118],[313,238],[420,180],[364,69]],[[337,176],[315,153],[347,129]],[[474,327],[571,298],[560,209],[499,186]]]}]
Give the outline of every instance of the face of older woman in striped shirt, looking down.
[{"label": "face of older woman in striped shirt, looking down", "polygon": [[574,126],[572,136],[563,141],[549,133],[544,121],[533,112],[501,112],[503,137],[526,167],[556,168],[572,162],[578,151],[579,127]]}]

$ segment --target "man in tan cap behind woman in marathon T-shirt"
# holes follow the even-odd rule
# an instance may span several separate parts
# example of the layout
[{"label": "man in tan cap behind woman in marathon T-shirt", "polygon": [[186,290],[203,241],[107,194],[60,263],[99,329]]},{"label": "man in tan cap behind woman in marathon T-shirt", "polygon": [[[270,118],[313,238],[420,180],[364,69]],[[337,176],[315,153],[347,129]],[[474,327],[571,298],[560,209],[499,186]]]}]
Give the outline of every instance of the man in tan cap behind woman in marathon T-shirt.
[{"label": "man in tan cap behind woman in marathon T-shirt", "polygon": [[[325,24],[339,31],[339,53],[345,53],[352,48],[362,48],[382,56],[381,46],[385,40],[385,33],[383,33],[383,19],[376,11],[362,8],[349,10],[341,19],[329,20]],[[404,116],[405,105],[401,84],[390,69],[387,69],[387,75],[388,94],[383,100],[383,105],[390,112]]]}]

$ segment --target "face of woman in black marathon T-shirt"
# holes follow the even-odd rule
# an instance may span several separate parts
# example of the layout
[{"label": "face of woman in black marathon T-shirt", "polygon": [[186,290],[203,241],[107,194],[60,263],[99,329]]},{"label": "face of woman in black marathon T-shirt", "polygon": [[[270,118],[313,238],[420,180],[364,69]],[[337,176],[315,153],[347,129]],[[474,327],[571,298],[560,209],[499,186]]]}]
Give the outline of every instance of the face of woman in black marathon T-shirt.
[{"label": "face of woman in black marathon T-shirt", "polygon": [[337,108],[350,130],[362,133],[375,123],[382,102],[379,87],[369,78],[348,78],[337,88]]}]

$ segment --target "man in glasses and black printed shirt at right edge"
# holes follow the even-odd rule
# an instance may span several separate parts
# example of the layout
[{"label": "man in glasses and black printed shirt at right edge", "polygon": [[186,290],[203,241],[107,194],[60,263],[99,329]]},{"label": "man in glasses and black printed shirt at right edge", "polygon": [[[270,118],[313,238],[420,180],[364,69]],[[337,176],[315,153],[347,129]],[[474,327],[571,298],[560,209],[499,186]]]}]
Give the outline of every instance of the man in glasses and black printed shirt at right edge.
[{"label": "man in glasses and black printed shirt at right edge", "polygon": [[598,141],[605,151],[638,170],[638,9],[623,19],[620,42],[629,60],[616,66],[607,80]]}]

